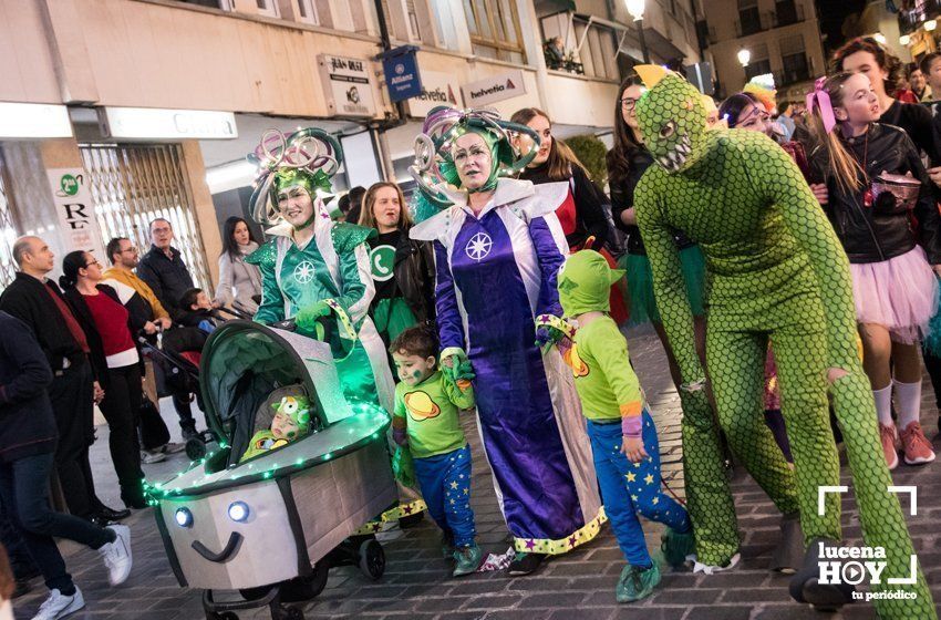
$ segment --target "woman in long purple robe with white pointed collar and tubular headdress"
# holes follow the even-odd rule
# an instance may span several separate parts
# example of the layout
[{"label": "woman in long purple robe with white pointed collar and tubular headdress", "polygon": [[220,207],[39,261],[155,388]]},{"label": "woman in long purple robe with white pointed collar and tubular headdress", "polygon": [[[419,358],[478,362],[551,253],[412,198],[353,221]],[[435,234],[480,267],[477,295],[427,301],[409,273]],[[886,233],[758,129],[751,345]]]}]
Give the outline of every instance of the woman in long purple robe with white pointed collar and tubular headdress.
[{"label": "woman in long purple robe with white pointed collar and tubular headdress", "polygon": [[[437,326],[447,366],[476,374],[477,416],[500,509],[515,537],[510,575],[591,540],[602,521],[598,484],[571,371],[537,340],[537,318],[561,313],[556,276],[568,245],[555,210],[568,184],[507,178],[536,155],[496,114],[433,110],[413,176],[436,215],[412,228],[434,241]],[[427,208],[431,206],[432,208]]]}]

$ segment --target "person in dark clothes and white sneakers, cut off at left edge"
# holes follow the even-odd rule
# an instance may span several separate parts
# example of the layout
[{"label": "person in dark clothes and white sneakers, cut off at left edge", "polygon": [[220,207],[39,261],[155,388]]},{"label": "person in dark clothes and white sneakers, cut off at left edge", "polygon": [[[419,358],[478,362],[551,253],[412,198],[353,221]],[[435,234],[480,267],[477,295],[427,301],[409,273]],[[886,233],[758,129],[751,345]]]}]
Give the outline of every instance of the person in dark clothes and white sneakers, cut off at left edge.
[{"label": "person in dark clothes and white sneakers, cut off at left edge", "polygon": [[85,606],[54,538],[97,549],[113,586],[127,579],[132,562],[127,526],[100,527],[50,508],[56,433],[46,388],[52,382],[52,370],[30,328],[0,312],[0,500],[50,590],[35,618],[50,620]]}]

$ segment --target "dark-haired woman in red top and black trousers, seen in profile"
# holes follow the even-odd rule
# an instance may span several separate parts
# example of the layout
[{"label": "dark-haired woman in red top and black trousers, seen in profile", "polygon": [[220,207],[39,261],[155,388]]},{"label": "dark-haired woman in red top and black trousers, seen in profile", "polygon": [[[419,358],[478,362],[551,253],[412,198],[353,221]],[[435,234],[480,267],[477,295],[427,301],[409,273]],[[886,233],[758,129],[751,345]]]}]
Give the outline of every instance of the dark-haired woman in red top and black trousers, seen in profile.
[{"label": "dark-haired woman in red top and black trousers, seen in profile", "polygon": [[143,509],[147,502],[141,484],[144,473],[137,424],[144,397],[144,364],[136,334],[147,330],[153,333],[156,327],[144,322],[139,314],[132,314],[117,291],[100,283],[102,271],[91,252],[69,252],[62,260],[60,283],[89,339],[92,366],[104,389],[99,406],[107,420],[107,443],[121,499],[128,508]]}]

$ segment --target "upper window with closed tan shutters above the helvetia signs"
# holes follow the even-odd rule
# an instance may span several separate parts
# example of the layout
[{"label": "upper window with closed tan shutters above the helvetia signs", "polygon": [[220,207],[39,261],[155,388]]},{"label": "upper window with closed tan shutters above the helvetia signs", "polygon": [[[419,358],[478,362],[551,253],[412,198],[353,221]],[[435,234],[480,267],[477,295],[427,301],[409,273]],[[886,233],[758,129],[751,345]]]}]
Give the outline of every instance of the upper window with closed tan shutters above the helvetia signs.
[{"label": "upper window with closed tan shutters above the helvetia signs", "polygon": [[464,12],[476,55],[526,64],[515,0],[464,0]]}]

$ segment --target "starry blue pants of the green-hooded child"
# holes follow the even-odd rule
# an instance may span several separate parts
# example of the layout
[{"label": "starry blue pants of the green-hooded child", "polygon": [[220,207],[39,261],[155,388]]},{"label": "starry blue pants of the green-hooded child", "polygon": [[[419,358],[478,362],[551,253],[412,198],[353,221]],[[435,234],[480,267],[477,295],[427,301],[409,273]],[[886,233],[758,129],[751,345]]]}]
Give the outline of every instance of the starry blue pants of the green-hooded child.
[{"label": "starry blue pants of the green-hooded child", "polygon": [[652,562],[638,515],[681,533],[689,531],[692,525],[686,509],[661,489],[656,427],[647,410],[642,415],[643,447],[649,457],[640,463],[631,463],[621,452],[620,421],[601,424],[589,420],[588,436],[601,500],[618,545],[629,564],[650,567]]}]

